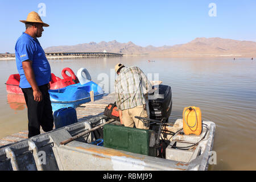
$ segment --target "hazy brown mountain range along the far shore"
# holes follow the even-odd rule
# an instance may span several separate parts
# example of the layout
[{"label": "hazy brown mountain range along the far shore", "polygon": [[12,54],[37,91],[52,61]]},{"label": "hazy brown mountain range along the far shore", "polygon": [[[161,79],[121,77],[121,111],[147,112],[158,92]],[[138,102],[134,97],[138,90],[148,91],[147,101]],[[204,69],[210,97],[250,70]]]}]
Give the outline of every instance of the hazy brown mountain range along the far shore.
[{"label": "hazy brown mountain range along the far shore", "polygon": [[113,52],[125,55],[256,55],[256,42],[240,41],[222,38],[196,38],[186,44],[175,46],[141,47],[133,42],[90,42],[75,46],[53,46],[44,49],[45,52]]}]

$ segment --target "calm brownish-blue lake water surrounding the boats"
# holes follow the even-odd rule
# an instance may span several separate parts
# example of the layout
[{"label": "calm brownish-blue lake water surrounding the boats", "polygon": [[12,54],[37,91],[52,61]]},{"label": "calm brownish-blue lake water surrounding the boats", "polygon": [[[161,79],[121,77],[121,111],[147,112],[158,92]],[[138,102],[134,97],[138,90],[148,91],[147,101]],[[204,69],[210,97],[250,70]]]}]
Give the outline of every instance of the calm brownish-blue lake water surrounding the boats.
[{"label": "calm brownish-blue lake water surrounding the boats", "polygon": [[[148,62],[148,60],[151,60]],[[256,61],[249,58],[166,58],[131,56],[99,59],[49,60],[52,73],[88,69],[92,80],[113,91],[114,65],[137,65],[152,80],[172,88],[172,114],[197,106],[204,121],[216,123],[213,150],[217,164],[209,170],[256,170]],[[27,109],[9,96],[5,82],[18,73],[15,61],[0,61],[0,138],[27,130]],[[103,78],[104,77],[104,78]],[[158,78],[159,77],[159,78]],[[61,77],[62,78],[62,77]],[[109,78],[109,79],[106,79]],[[103,81],[105,79],[105,81]]]}]

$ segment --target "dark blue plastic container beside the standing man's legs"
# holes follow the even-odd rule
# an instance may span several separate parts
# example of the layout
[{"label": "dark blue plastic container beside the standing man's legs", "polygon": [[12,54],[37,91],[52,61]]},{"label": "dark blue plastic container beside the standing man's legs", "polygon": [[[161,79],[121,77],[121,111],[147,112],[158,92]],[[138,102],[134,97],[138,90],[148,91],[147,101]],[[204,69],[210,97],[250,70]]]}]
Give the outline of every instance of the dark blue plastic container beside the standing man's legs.
[{"label": "dark blue plastic container beside the standing man's legs", "polygon": [[63,126],[77,123],[76,109],[73,107],[64,107],[53,113],[55,129]]}]

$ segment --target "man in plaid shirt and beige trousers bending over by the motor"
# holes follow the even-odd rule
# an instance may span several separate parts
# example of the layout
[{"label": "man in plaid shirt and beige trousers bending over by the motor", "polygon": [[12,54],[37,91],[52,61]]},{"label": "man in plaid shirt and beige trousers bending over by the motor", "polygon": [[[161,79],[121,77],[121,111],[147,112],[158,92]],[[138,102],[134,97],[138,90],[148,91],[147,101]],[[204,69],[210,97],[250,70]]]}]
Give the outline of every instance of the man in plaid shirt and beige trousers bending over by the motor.
[{"label": "man in plaid shirt and beige trousers bending over by the motor", "polygon": [[154,92],[151,82],[138,67],[115,65],[117,80],[115,80],[115,99],[119,110],[120,121],[126,127],[148,129],[143,122],[135,118],[147,118],[146,101],[144,94]]}]

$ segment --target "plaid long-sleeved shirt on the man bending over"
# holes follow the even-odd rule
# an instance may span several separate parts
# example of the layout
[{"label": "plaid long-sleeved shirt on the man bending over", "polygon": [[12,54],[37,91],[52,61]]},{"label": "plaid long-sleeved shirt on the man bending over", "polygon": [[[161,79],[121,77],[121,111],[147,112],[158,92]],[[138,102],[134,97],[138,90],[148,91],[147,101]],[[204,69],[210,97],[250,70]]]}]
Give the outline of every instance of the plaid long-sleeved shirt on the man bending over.
[{"label": "plaid long-sleeved shirt on the man bending over", "polygon": [[146,104],[144,94],[154,91],[150,81],[138,67],[122,68],[114,88],[117,107],[121,110]]}]

